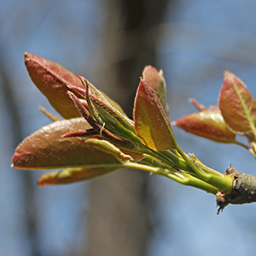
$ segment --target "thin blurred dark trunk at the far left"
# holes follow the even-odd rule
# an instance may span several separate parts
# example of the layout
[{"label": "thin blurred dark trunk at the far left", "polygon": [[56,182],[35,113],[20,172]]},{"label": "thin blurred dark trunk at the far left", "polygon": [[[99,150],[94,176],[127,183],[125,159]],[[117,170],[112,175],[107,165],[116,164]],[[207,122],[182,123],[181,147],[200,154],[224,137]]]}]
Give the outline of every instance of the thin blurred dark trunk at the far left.
[{"label": "thin blurred dark trunk at the far left", "polygon": [[[11,71],[6,64],[8,58],[4,54],[5,52],[7,52],[7,50],[0,49],[0,88],[10,122],[9,134],[11,134],[11,136],[9,136],[9,143],[11,147],[15,149],[24,136],[21,134],[19,107],[17,101],[15,101],[15,93],[13,92],[15,86],[11,79],[9,79]],[[21,208],[20,212],[25,212],[23,215],[24,218],[20,219],[20,223],[26,227],[26,230],[22,230],[22,235],[20,234],[20,240],[26,236],[28,251],[30,251],[29,255],[39,256],[41,254],[38,247],[37,211],[34,204],[32,174],[30,172],[17,172],[17,176],[20,176],[20,183],[22,185],[22,190],[19,191],[21,193],[17,196],[20,201],[24,202],[22,204],[24,208]],[[22,214],[20,215],[22,216]]]}]

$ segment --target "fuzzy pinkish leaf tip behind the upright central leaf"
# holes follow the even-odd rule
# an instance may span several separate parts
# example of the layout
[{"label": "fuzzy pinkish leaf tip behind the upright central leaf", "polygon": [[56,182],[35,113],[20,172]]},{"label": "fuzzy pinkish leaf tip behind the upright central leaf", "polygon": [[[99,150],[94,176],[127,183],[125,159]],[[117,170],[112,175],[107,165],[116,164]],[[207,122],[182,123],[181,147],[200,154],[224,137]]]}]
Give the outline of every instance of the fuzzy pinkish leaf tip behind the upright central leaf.
[{"label": "fuzzy pinkish leaf tip behind the upright central leaf", "polygon": [[167,113],[167,105],[166,105],[166,81],[163,76],[162,70],[160,72],[157,71],[155,67],[146,66],[143,70],[143,80],[150,85],[156,95],[158,96],[163,108]]}]

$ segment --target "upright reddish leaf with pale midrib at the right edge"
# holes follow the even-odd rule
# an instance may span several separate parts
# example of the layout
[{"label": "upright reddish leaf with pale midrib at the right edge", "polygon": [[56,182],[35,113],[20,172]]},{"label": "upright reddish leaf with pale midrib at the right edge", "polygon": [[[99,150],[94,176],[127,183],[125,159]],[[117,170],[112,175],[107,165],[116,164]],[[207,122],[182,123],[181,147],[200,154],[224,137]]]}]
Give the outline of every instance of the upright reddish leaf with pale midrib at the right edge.
[{"label": "upright reddish leaf with pale midrib at the right edge", "polygon": [[247,86],[234,74],[227,78],[220,90],[219,109],[230,129],[239,133],[255,130],[256,104]]}]

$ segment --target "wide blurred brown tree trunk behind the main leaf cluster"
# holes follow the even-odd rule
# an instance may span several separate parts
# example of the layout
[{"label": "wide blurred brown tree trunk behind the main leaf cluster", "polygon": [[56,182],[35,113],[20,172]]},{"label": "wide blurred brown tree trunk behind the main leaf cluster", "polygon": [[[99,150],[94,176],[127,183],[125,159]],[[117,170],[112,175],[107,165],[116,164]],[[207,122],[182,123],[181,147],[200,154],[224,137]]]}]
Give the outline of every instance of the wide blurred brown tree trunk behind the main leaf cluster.
[{"label": "wide blurred brown tree trunk behind the main leaf cluster", "polygon": [[[108,12],[97,84],[131,117],[139,77],[155,65],[158,25],[168,0],[107,1]],[[146,254],[151,234],[148,173],[113,172],[91,182],[87,256]]]}]

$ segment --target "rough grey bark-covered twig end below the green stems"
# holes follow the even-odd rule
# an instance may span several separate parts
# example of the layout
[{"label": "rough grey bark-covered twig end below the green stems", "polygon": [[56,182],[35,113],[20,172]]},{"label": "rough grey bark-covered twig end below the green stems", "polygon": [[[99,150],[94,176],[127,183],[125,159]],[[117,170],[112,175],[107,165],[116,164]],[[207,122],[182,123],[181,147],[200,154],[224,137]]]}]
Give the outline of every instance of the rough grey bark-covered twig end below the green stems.
[{"label": "rough grey bark-covered twig end below the green stems", "polygon": [[226,170],[226,175],[234,178],[233,189],[229,195],[218,192],[216,202],[218,212],[222,211],[228,204],[244,204],[256,201],[256,177],[236,171],[230,166]]}]

